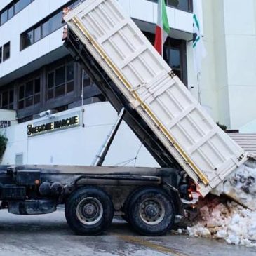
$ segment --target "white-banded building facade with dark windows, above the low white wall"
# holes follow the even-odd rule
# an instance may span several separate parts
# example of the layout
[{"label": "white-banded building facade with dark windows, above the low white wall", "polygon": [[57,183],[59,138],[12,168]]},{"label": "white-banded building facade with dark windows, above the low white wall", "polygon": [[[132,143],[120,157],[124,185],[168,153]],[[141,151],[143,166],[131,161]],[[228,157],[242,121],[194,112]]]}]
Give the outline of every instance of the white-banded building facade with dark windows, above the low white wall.
[{"label": "white-banded building facade with dark windows, above the low white wall", "polygon": [[[82,71],[62,46],[62,9],[80,0],[4,0],[0,3],[0,107],[15,109],[18,122],[55,109],[79,105]],[[121,6],[154,42],[156,1],[121,0]],[[187,41],[191,39],[192,1],[168,1],[173,38],[164,49],[166,61],[187,85]],[[142,11],[143,10],[143,11]],[[85,75],[85,102],[105,101]]]}]

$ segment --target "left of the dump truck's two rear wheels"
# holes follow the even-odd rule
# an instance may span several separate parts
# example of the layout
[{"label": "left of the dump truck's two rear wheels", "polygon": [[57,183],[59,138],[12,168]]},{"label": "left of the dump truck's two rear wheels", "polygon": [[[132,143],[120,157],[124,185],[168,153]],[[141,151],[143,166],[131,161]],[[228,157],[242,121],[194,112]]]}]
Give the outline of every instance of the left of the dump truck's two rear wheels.
[{"label": "left of the dump truck's two rear wheels", "polygon": [[112,223],[114,207],[107,193],[96,187],[74,191],[65,204],[69,227],[79,235],[97,235]]}]

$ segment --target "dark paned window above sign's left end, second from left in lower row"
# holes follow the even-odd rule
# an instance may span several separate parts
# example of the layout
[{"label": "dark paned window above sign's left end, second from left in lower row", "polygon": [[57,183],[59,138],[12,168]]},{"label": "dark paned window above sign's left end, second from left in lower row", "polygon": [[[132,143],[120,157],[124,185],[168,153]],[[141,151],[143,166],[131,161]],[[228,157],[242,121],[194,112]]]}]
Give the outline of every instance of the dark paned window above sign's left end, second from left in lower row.
[{"label": "dark paned window above sign's left end, second from left in lower row", "polygon": [[18,109],[31,107],[40,102],[41,81],[40,78],[27,81],[19,87]]}]

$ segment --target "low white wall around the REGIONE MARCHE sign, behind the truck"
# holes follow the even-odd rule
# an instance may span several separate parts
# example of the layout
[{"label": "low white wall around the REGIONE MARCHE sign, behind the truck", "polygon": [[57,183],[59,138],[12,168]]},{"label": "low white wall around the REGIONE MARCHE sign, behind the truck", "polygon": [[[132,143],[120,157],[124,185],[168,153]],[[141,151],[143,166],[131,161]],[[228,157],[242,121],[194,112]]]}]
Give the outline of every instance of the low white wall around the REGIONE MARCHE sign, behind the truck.
[{"label": "low white wall around the REGIONE MARCHE sign, behind the truck", "polygon": [[[70,109],[56,116],[77,110],[79,108]],[[43,119],[48,121],[48,118],[43,117],[33,122]],[[11,126],[4,129],[8,144],[2,164],[15,164],[15,155],[23,154],[24,164],[90,166],[102,149],[116,119],[114,108],[108,102],[100,102],[85,106],[84,128],[69,128],[27,137],[27,124],[32,121]],[[159,166],[126,123],[121,124],[104,165],[115,166],[118,163],[119,166]]]}]

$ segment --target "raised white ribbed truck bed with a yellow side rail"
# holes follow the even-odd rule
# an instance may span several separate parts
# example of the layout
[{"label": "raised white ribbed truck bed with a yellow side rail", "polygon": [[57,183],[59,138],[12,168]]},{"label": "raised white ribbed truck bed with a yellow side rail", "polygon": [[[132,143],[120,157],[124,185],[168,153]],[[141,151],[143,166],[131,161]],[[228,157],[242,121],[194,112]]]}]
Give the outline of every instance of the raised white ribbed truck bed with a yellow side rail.
[{"label": "raised white ribbed truck bed with a yellow side rail", "polygon": [[203,196],[247,160],[116,0],[86,0],[65,21]]}]

